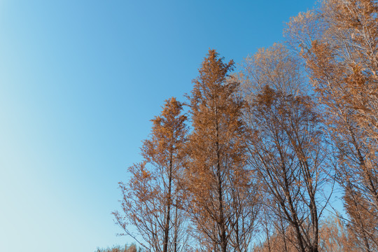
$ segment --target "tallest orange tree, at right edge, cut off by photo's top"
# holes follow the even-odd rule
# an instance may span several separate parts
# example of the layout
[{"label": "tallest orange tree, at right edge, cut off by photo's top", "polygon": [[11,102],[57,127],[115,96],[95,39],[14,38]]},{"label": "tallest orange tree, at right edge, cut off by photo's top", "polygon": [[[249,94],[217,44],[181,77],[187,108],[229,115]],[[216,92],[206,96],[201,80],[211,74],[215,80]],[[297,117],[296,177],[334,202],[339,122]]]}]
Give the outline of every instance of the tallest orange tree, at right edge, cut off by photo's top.
[{"label": "tallest orange tree, at right edge, cut off by photo's top", "polygon": [[[304,29],[298,27],[314,23],[321,29],[303,36]],[[325,108],[349,227],[356,230],[361,250],[377,251],[378,3],[324,1],[318,10],[293,18],[287,34],[302,48],[311,83]]]}]

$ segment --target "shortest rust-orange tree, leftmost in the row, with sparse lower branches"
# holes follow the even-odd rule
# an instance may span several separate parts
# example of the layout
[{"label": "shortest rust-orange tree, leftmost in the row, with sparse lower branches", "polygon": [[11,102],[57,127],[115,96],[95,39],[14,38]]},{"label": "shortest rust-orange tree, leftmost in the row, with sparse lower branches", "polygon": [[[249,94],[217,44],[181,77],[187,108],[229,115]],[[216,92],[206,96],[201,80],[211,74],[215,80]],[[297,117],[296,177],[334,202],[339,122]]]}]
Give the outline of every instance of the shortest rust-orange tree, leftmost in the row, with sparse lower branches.
[{"label": "shortest rust-orange tree, leftmost in the row, with sparse lower branches", "polygon": [[165,102],[161,115],[152,120],[151,137],[141,148],[143,162],[129,167],[130,181],[120,183],[123,214],[114,213],[116,222],[125,230],[125,235],[132,236],[148,251],[187,249],[179,245],[179,239],[185,239],[186,235],[182,233],[185,229],[183,192],[178,186],[187,133],[187,118],[182,110],[183,105],[175,98]]}]

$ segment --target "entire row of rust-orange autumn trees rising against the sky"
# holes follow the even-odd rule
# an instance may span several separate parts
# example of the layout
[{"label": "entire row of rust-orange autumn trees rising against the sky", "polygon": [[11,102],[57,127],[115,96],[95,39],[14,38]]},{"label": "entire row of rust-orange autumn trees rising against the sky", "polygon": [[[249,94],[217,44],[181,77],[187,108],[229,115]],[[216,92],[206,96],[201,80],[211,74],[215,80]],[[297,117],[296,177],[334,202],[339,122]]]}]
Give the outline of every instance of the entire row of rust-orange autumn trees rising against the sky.
[{"label": "entire row of rust-orange autumn trees rising against the sky", "polygon": [[146,251],[378,251],[378,3],[324,1],[285,35],[233,75],[209,50],[152,120],[114,213]]}]

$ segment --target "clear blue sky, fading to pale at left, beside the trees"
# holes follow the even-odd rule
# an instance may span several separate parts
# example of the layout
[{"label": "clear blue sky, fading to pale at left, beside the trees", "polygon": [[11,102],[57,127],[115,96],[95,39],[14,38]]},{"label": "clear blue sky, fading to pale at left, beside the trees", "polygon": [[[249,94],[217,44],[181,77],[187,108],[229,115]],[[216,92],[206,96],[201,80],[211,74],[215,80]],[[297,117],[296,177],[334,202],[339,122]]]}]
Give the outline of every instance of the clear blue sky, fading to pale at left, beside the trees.
[{"label": "clear blue sky, fading to pale at left, beside the trees", "polygon": [[241,60],[314,0],[0,0],[0,251],[125,244],[118,181],[209,48]]}]

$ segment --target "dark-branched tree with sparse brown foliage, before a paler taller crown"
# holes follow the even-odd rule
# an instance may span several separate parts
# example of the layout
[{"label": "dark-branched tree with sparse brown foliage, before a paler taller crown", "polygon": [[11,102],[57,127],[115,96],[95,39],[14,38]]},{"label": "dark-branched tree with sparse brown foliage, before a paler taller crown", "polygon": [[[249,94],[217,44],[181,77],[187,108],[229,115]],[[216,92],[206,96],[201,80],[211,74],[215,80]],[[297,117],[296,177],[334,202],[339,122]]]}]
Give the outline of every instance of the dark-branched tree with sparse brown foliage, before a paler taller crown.
[{"label": "dark-branched tree with sparse brown foliage, before a paler taller crown", "polygon": [[298,251],[318,251],[323,152],[311,99],[267,86],[251,109],[250,162],[272,198],[269,207],[293,228]]}]

